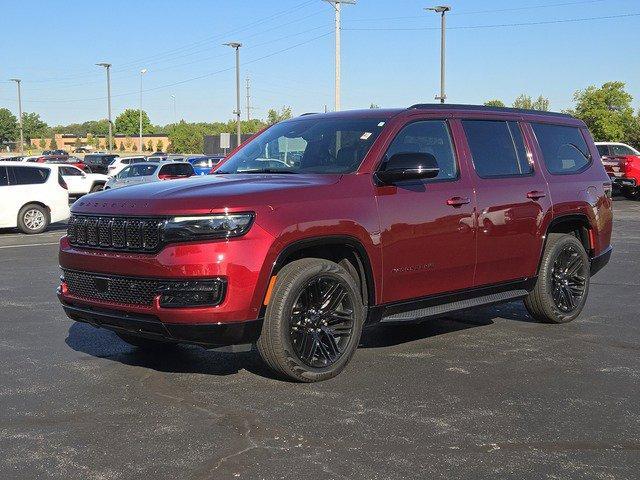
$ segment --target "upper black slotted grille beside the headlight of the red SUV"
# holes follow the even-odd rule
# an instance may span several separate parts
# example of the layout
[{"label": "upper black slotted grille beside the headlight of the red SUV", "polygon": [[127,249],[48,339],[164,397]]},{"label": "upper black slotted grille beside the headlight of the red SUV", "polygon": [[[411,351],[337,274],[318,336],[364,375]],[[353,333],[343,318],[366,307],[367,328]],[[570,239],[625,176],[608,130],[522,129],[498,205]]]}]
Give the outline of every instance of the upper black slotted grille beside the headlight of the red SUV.
[{"label": "upper black slotted grille beside the headlight of the red SUV", "polygon": [[76,247],[155,252],[161,246],[161,218],[72,215],[67,236]]}]

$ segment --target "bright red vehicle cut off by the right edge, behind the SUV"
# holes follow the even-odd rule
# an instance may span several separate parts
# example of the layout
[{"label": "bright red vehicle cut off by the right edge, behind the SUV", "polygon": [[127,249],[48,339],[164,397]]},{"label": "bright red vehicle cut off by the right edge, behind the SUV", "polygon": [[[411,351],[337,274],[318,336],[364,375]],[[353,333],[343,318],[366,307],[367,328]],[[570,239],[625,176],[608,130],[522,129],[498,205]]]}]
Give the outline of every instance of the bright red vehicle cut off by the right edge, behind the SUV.
[{"label": "bright red vehicle cut off by the right edge, behind the SUV", "polygon": [[630,145],[596,142],[613,185],[631,200],[640,200],[640,152]]}]

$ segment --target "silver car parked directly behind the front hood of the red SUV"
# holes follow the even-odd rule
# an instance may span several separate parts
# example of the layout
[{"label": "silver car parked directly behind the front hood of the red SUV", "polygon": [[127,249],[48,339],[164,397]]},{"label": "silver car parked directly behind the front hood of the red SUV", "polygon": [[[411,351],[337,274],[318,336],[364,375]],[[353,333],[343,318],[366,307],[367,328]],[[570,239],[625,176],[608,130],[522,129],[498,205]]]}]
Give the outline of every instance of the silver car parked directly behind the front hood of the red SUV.
[{"label": "silver car parked directly behind the front hood of the red SUV", "polygon": [[134,163],[122,169],[120,173],[109,180],[104,189],[130,187],[141,183],[157,182],[158,180],[175,180],[189,178],[195,172],[189,162],[143,162]]}]

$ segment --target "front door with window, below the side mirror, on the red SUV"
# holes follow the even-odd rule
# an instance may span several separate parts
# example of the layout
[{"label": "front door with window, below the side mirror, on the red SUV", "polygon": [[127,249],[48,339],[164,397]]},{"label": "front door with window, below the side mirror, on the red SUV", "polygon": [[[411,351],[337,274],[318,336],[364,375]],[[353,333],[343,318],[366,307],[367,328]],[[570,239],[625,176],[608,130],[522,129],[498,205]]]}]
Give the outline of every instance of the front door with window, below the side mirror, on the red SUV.
[{"label": "front door with window, below the side mirror, on the red SUV", "polygon": [[433,155],[440,172],[429,180],[376,187],[385,303],[473,285],[473,188],[456,150],[449,123],[430,119],[410,121],[387,149],[381,168],[394,154],[420,152]]}]

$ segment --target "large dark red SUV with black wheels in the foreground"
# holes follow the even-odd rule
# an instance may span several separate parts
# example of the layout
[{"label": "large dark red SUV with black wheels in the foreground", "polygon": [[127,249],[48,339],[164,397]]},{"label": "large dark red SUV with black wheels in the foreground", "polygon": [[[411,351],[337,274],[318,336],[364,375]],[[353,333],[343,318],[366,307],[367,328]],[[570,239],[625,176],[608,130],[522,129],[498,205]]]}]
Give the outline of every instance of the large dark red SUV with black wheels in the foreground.
[{"label": "large dark red SUV with black wheels in the foreground", "polygon": [[584,123],[464,105],[308,114],[213,175],[74,203],[67,315],[140,347],[256,343],[299,381],[365,325],[515,299],[568,322],[611,255],[611,181]]}]

